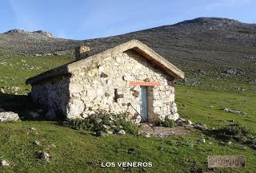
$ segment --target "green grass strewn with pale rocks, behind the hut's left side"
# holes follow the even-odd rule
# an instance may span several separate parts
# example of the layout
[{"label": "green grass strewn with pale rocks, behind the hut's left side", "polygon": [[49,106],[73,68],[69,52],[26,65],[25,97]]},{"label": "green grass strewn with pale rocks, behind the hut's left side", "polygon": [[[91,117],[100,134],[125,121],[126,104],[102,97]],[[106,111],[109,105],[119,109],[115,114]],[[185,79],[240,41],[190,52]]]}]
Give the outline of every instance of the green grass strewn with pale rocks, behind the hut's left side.
[{"label": "green grass strewn with pale rocks, behind the hut's left side", "polygon": [[[22,57],[0,52],[0,88],[3,86],[18,86],[22,88],[18,91],[18,94],[25,94],[30,91],[30,85],[25,85],[27,78],[72,60],[74,60],[74,57],[70,56]],[[11,91],[6,90],[6,92]]]}]

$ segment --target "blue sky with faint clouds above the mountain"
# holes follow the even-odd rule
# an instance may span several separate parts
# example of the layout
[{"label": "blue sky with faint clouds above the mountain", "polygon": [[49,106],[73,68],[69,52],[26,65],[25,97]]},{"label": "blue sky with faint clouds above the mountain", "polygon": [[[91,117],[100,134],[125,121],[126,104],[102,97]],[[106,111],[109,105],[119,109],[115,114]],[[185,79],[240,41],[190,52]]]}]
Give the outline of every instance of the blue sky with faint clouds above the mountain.
[{"label": "blue sky with faint clouds above the mountain", "polygon": [[45,30],[79,40],[199,17],[256,23],[256,0],[0,0],[0,33]]}]

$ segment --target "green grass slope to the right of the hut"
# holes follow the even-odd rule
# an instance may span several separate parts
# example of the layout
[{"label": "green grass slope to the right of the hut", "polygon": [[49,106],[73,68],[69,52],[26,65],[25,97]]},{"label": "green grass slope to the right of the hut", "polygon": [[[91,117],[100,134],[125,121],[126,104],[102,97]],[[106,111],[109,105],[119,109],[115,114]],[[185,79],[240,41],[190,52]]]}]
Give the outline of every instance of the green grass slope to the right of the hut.
[{"label": "green grass slope to the right of the hut", "polygon": [[[218,128],[234,120],[247,128],[253,128],[256,132],[256,100],[253,92],[218,92],[177,85],[176,103],[179,115],[192,122]],[[185,107],[182,104],[185,104]],[[244,111],[247,115],[224,112],[224,107]]]}]

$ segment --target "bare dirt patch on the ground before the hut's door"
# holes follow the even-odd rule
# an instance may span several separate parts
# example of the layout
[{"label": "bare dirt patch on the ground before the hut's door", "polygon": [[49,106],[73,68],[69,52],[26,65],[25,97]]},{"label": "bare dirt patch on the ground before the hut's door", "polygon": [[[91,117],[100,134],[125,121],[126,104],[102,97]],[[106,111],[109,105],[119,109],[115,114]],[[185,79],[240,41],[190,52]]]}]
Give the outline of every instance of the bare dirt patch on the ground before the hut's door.
[{"label": "bare dirt patch on the ground before the hut's door", "polygon": [[140,132],[144,134],[149,134],[150,136],[182,136],[193,132],[193,129],[186,127],[165,128],[158,126],[154,126],[153,129],[150,128],[148,124],[142,124]]}]

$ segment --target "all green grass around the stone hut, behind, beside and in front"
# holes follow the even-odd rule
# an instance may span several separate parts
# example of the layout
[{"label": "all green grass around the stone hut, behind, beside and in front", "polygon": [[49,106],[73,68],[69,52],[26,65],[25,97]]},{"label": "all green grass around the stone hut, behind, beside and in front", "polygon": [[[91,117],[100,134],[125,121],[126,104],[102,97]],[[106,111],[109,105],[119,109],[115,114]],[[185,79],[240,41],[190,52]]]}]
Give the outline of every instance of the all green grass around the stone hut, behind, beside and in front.
[{"label": "all green grass around the stone hut, behind, beside and in front", "polygon": [[[70,57],[22,57],[0,53],[0,87],[17,86],[18,95],[30,91],[24,85],[27,77],[71,61]],[[205,77],[203,80],[207,81]],[[238,83],[233,79],[222,83],[211,81],[206,85],[176,85],[180,116],[218,128],[231,123],[242,124],[256,132],[255,85]],[[211,86],[218,86],[211,88]],[[239,85],[245,92],[234,89]],[[0,94],[0,108],[24,114],[24,96],[14,96],[11,89]],[[236,108],[247,114],[239,116],[221,110]],[[31,130],[30,128],[36,128]],[[205,138],[206,143],[201,139]],[[38,147],[32,143],[40,141]],[[133,152],[130,153],[129,149]],[[50,163],[36,159],[35,151],[51,155]],[[208,155],[246,155],[244,168],[207,168]],[[0,172],[254,172],[256,151],[246,145],[217,140],[194,131],[186,136],[165,139],[145,136],[97,137],[90,132],[62,127],[58,122],[19,121],[0,123],[0,159],[10,167],[0,167]],[[101,162],[152,162],[153,167],[102,168]]]}]

